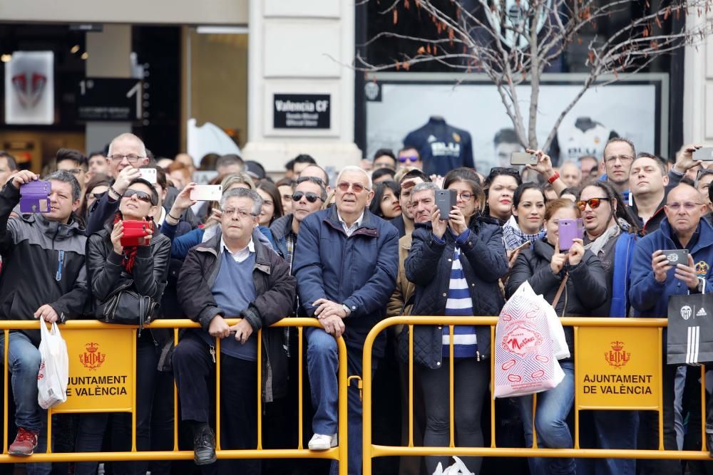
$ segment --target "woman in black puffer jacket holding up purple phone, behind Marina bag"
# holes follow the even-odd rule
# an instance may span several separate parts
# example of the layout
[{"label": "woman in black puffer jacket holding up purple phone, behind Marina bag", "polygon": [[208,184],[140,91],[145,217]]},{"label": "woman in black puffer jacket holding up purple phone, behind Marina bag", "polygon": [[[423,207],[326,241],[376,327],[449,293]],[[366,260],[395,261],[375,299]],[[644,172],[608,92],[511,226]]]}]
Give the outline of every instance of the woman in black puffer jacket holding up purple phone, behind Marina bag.
[{"label": "woman in black puffer jacket holding up purple phone, behind Marina bag", "polygon": [[[531,249],[520,252],[513,265],[506,286],[510,297],[525,281],[530,283],[536,294],[544,296],[552,303],[558,290],[563,288],[560,298],[553,306],[559,316],[590,316],[607,300],[606,274],[597,256],[584,249],[582,239],[565,244],[568,251],[560,251],[559,223],[563,219],[577,219],[581,210],[569,199],[555,199],[545,207],[545,229],[543,239],[535,241]],[[573,329],[565,327],[570,354],[573,355]],[[548,449],[568,449],[572,447],[572,434],[567,425],[567,416],[572,409],[575,395],[574,362],[567,358],[560,360],[565,378],[552,390],[537,395],[535,430],[538,447]],[[520,417],[525,430],[525,444],[533,444],[533,397],[518,397]],[[549,459],[533,457],[528,460],[530,474],[571,474],[575,475],[574,459]]]}]

